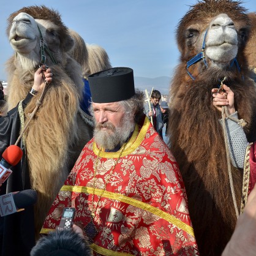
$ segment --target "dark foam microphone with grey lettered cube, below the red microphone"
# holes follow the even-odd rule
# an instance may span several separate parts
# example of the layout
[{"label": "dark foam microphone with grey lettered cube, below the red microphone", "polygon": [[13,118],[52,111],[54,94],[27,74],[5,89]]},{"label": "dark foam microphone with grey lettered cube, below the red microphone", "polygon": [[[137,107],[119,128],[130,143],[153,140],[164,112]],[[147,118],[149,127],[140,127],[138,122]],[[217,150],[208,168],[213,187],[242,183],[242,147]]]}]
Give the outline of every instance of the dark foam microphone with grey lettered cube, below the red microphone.
[{"label": "dark foam microphone with grey lettered cube, below the red microphone", "polygon": [[0,215],[1,217],[23,211],[27,206],[34,205],[37,201],[37,192],[26,189],[17,193],[9,193],[0,196]]}]

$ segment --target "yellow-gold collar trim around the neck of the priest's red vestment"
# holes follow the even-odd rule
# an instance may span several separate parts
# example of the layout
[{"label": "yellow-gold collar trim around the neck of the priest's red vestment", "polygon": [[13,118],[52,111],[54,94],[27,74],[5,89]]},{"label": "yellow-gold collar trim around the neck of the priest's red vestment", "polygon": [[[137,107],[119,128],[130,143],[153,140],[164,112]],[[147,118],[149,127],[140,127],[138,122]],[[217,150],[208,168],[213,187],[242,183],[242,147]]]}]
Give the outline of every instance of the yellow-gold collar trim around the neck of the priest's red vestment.
[{"label": "yellow-gold collar trim around the neck of the priest's red vestment", "polygon": [[[130,140],[126,143],[126,149],[122,151],[121,157],[127,156],[128,154],[135,151],[135,149],[140,146],[142,140],[144,139],[146,132],[148,130],[150,121],[148,118],[145,118],[144,124],[141,127],[140,132],[138,132],[138,125],[135,125],[134,132],[132,134],[132,137],[130,137]],[[96,154],[96,156],[105,157],[105,158],[116,158],[119,157],[120,150],[117,152],[104,152],[100,151],[97,147],[96,143],[93,143],[93,152]]]}]

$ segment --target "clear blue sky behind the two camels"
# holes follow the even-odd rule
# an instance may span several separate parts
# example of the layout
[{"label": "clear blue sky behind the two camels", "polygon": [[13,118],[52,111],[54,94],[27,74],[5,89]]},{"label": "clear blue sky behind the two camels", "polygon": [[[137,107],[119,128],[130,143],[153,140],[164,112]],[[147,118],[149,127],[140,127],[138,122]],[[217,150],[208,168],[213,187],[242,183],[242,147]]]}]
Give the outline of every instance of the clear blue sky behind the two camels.
[{"label": "clear blue sky behind the two camels", "polygon": [[[24,6],[44,4],[58,10],[67,27],[86,43],[104,47],[112,66],[134,69],[136,77],[170,77],[178,64],[175,30],[196,0],[1,0],[0,80],[13,51],[6,36],[7,17]],[[175,3],[175,7],[173,6]],[[256,1],[243,4],[256,11]]]}]

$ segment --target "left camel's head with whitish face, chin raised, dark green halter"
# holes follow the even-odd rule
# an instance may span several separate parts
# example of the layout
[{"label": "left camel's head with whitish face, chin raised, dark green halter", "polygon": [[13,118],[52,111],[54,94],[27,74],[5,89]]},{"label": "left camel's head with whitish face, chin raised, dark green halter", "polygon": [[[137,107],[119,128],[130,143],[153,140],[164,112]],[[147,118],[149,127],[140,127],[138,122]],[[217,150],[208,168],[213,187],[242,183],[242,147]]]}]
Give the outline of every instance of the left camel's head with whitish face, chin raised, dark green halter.
[{"label": "left camel's head with whitish face, chin raised, dark green halter", "polygon": [[43,43],[46,46],[43,51],[48,66],[55,64],[55,61],[63,61],[63,53],[73,47],[73,39],[59,13],[45,6],[23,7],[10,15],[8,23],[10,45],[24,70],[34,70],[42,62],[40,50]]}]

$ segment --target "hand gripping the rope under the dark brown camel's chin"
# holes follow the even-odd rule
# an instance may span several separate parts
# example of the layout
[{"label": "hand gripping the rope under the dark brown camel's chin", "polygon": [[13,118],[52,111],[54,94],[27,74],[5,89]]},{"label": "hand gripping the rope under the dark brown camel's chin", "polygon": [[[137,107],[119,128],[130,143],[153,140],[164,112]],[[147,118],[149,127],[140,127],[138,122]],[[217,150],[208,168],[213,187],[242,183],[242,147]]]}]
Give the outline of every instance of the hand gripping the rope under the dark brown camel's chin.
[{"label": "hand gripping the rope under the dark brown camel's chin", "polygon": [[221,111],[222,106],[227,106],[228,114],[235,113],[235,97],[234,92],[227,85],[223,85],[225,92],[217,92],[218,88],[213,88],[213,105],[217,110]]}]

